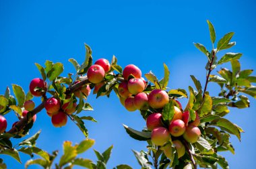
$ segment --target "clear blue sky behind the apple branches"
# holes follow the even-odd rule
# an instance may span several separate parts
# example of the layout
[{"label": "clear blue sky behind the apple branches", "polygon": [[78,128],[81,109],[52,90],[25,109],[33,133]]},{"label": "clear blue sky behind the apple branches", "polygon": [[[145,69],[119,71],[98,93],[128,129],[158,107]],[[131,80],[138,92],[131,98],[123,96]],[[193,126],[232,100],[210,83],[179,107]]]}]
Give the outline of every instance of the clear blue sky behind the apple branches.
[{"label": "clear blue sky behind the apple branches", "polygon": [[[205,81],[206,58],[194,46],[200,42],[210,48],[206,19],[216,28],[217,39],[227,32],[235,32],[236,46],[232,52],[242,52],[242,68],[255,69],[255,2],[254,1],[0,1],[0,93],[7,86],[19,84],[28,91],[32,78],[40,77],[35,62],[45,60],[63,62],[65,71],[74,72],[67,61],[75,58],[84,61],[84,42],[91,46],[94,61],[117,56],[121,66],[135,64],[143,74],[152,70],[159,78],[162,64],[170,68],[171,89],[187,90],[193,85],[189,75]],[[230,65],[226,65],[230,67]],[[216,72],[216,70],[214,71]],[[255,73],[254,73],[255,75]],[[210,94],[216,94],[218,86],[210,84]],[[249,109],[232,109],[228,119],[245,130],[242,142],[232,136],[236,154],[224,156],[230,168],[254,168],[256,102],[251,99]],[[102,152],[111,144],[113,154],[108,168],[117,164],[129,164],[139,168],[131,150],[146,150],[146,143],[131,139],[122,123],[142,129],[145,122],[139,111],[128,112],[117,97],[88,102],[94,107],[92,115],[98,123],[86,122],[90,137],[96,139],[94,149]],[[181,99],[183,105],[186,99]],[[39,100],[36,100],[39,104]],[[8,128],[16,121],[13,113],[7,115]],[[79,129],[69,120],[62,128],[55,128],[45,111],[38,114],[30,133],[42,129],[37,146],[48,152],[62,151],[64,140],[77,143],[84,139]],[[62,154],[62,153],[61,153]],[[83,155],[96,160],[93,151]],[[2,158],[2,156],[1,156]],[[9,168],[21,168],[15,160],[3,156]],[[22,162],[28,156],[22,155]],[[31,168],[36,168],[32,166]]]}]

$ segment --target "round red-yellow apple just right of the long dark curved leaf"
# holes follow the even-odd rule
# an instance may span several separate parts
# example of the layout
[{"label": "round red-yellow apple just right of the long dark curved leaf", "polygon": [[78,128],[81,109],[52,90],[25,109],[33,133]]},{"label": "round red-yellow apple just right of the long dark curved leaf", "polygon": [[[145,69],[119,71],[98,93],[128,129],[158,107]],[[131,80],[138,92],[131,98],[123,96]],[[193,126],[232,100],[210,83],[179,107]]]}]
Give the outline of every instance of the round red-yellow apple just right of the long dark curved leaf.
[{"label": "round red-yellow apple just right of the long dark curved leaf", "polygon": [[163,146],[170,139],[170,133],[165,127],[156,127],[152,130],[151,140],[156,146]]}]

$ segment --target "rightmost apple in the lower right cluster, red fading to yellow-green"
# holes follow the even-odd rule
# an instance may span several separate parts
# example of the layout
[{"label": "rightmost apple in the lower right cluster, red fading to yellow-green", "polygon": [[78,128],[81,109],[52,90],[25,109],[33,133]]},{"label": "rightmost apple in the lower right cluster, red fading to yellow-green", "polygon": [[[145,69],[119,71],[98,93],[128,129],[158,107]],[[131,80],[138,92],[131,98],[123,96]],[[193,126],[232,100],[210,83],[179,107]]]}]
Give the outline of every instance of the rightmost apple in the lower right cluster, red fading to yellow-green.
[{"label": "rightmost apple in the lower right cluster, red fading to yellow-green", "polygon": [[183,133],[183,138],[186,139],[186,141],[189,143],[195,143],[197,142],[197,139],[199,138],[200,135],[200,129],[195,125],[189,124],[185,133]]}]

